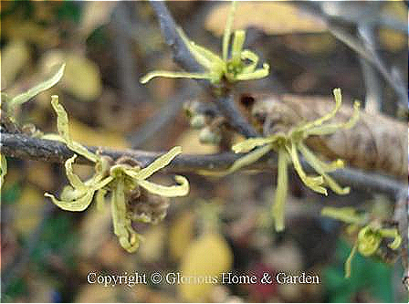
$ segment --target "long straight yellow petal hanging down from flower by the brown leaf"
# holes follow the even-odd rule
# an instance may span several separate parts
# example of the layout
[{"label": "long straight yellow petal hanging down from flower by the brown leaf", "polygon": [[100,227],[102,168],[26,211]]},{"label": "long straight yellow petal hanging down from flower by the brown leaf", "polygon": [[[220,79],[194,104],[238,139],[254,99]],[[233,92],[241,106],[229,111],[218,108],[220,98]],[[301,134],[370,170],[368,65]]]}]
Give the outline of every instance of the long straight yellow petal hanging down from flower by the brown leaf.
[{"label": "long straight yellow petal hanging down from flower by the brown leaf", "polygon": [[278,150],[278,183],[273,204],[273,218],[276,231],[284,230],[285,204],[288,192],[287,152]]}]

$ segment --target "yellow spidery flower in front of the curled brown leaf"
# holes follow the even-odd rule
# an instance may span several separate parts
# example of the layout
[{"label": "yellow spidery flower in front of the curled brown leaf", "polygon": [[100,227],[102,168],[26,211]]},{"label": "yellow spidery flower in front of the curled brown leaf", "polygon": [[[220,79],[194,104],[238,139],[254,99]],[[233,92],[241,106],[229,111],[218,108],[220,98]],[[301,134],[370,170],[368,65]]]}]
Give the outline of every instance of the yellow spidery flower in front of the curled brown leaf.
[{"label": "yellow spidery flower in front of the curled brown leaf", "polygon": [[[287,133],[278,132],[271,136],[250,138],[243,142],[238,142],[232,147],[233,151],[246,154],[234,162],[225,172],[217,173],[217,175],[233,173],[242,167],[256,162],[270,151],[277,152],[278,185],[272,210],[277,231],[284,229],[284,205],[288,192],[288,162],[292,162],[301,181],[317,193],[327,195],[325,186],[330,187],[336,194],[348,194],[350,192],[349,187],[342,188],[328,174],[342,168],[344,163],[341,160],[330,163],[322,162],[304,143],[311,135],[321,136],[331,134],[341,128],[351,128],[356,121],[358,121],[360,104],[356,101],[354,104],[354,113],[349,121],[342,123],[324,123],[330,121],[341,107],[341,89],[334,89],[333,94],[335,97],[335,107],[330,113],[316,121],[300,124],[290,129]],[[299,152],[318,175],[311,176],[304,171],[299,160]]]}]

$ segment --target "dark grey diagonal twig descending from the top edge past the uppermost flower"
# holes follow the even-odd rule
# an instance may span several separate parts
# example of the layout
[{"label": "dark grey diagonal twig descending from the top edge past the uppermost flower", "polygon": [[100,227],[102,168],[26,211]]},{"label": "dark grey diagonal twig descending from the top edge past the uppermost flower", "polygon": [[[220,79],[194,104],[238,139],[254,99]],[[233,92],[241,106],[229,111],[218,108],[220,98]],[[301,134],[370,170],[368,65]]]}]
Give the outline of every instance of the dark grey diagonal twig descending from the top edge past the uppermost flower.
[{"label": "dark grey diagonal twig descending from the top edge past the uppermost flower", "polygon": [[[184,40],[179,36],[176,28],[176,23],[173,16],[169,13],[163,1],[151,1],[151,5],[156,15],[158,16],[161,25],[163,37],[166,43],[172,47],[174,61],[189,72],[200,72],[203,68],[197,63],[188,48],[184,45]],[[208,80],[197,80],[205,89],[210,91],[227,91],[227,89],[213,88]],[[218,94],[220,95],[220,94]],[[222,93],[222,96],[215,96],[215,104],[220,112],[225,115],[229,124],[239,133],[248,137],[256,137],[257,131],[244,118],[240,110],[237,109],[235,100],[230,94]]]}]

